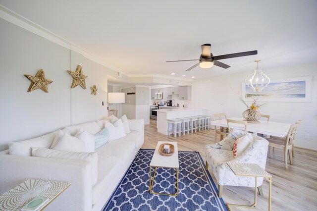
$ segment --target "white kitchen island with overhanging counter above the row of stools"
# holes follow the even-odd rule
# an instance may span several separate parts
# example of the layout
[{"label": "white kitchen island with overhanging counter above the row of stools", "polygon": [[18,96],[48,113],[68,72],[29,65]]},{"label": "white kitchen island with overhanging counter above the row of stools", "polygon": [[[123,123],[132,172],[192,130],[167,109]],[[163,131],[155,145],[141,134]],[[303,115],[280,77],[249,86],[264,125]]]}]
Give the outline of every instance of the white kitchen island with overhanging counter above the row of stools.
[{"label": "white kitchen island with overhanging counter above the row of stools", "polygon": [[157,119],[158,132],[167,135],[166,119],[203,115],[203,114],[207,114],[207,109],[185,107],[185,108],[157,109],[157,112],[158,112],[158,119]]}]

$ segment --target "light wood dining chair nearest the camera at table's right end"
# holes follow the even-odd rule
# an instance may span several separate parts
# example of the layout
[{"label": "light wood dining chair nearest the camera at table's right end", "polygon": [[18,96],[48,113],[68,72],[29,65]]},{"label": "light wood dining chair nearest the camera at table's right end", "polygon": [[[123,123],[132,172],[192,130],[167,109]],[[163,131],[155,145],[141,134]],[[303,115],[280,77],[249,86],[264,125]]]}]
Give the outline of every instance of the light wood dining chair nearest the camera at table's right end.
[{"label": "light wood dining chair nearest the camera at table's right end", "polygon": [[288,166],[287,166],[287,154],[289,157],[290,164],[291,165],[293,164],[292,149],[294,147],[294,142],[295,142],[295,133],[296,133],[296,130],[301,122],[302,122],[302,120],[299,120],[295,124],[291,124],[291,126],[288,130],[288,133],[284,138],[279,138],[279,137],[275,137],[275,136],[271,136],[270,138],[266,138],[266,140],[268,141],[268,147],[269,147],[268,158],[270,158],[272,155],[273,147],[283,149],[284,150],[284,164],[285,164],[286,169],[288,168]]}]

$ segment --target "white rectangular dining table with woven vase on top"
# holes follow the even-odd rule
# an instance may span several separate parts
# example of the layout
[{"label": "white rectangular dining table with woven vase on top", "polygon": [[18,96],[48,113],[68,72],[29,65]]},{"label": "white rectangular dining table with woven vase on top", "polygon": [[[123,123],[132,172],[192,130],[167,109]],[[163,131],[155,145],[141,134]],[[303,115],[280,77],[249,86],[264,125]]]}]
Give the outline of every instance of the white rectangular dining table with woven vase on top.
[{"label": "white rectangular dining table with woven vase on top", "polygon": [[[230,117],[228,119],[233,120],[245,120],[244,118]],[[215,121],[210,121],[210,125],[228,127],[227,119],[220,119]],[[248,123],[247,129],[249,132],[257,135],[262,133],[269,136],[285,137],[290,128],[291,124],[282,123],[282,122],[272,122],[272,121],[256,121]],[[230,123],[230,127],[238,130],[243,130],[243,126],[236,123]]]}]

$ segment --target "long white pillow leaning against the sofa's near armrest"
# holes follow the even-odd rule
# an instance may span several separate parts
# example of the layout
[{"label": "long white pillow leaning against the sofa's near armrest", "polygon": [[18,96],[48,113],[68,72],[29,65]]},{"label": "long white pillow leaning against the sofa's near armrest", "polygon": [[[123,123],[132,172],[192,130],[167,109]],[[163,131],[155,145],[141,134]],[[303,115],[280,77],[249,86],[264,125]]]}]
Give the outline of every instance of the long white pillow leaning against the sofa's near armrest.
[{"label": "long white pillow leaning against the sofa's near armrest", "polygon": [[92,183],[95,185],[98,179],[98,154],[97,153],[80,153],[80,152],[65,152],[46,148],[32,147],[32,156],[41,158],[60,158],[74,159],[92,162]]}]

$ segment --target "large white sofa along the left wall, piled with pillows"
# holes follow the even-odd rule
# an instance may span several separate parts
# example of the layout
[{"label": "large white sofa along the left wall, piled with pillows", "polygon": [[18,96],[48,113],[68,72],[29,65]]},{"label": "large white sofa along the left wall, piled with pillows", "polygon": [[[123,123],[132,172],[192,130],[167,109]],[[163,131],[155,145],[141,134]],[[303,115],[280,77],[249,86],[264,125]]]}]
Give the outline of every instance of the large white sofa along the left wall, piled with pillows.
[{"label": "large white sofa along the left wall, piled with pillows", "polygon": [[[92,183],[91,162],[10,155],[12,153],[5,150],[0,152],[0,195],[29,178],[65,181],[71,183],[70,187],[46,210],[100,211],[144,142],[144,119],[129,119],[128,122],[130,133],[120,139],[108,141],[96,150],[98,180],[95,185]],[[83,128],[89,133],[96,133],[96,125],[98,123],[94,121],[67,129],[74,132]],[[50,148],[56,133],[57,131],[18,143],[21,144],[21,149],[25,146]]]}]

